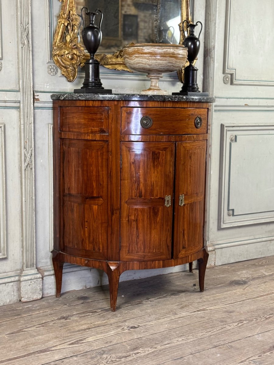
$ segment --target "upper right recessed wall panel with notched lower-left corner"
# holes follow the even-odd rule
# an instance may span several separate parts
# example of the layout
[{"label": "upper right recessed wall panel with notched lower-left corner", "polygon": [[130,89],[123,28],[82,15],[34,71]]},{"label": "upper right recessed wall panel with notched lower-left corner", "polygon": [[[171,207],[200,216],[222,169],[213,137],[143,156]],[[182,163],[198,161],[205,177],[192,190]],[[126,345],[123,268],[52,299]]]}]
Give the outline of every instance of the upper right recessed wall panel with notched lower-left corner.
[{"label": "upper right recessed wall panel with notched lower-left corner", "polygon": [[227,0],[224,73],[232,85],[274,85],[274,1]]}]

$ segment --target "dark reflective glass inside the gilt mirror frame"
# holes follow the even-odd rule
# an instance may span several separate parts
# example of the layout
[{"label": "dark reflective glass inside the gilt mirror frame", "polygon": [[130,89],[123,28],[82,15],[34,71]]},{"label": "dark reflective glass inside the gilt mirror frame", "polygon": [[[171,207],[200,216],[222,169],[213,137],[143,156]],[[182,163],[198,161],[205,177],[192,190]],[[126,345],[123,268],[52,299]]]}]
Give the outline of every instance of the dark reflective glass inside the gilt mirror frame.
[{"label": "dark reflective glass inside the gilt mirror frame", "polygon": [[[98,53],[113,53],[129,43],[157,43],[163,38],[179,43],[181,0],[75,0],[75,3],[79,15],[84,6],[89,11],[100,9],[103,13]],[[88,17],[84,20],[87,26]],[[96,25],[99,20],[100,15],[95,18]]]}]

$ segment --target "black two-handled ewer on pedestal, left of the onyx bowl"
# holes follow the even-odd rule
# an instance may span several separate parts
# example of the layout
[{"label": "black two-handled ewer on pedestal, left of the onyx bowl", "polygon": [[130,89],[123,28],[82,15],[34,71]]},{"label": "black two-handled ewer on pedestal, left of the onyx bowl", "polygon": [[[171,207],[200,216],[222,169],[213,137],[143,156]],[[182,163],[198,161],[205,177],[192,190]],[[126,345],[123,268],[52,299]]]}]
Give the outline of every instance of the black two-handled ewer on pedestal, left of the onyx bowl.
[{"label": "black two-handled ewer on pedestal, left of the onyx bowl", "polygon": [[[85,27],[83,10],[85,9],[85,14],[90,18],[90,24]],[[95,16],[99,15],[100,12],[100,22],[99,27],[95,25]],[[99,62],[94,58],[95,53],[97,52],[101,40],[102,40],[102,32],[101,32],[101,24],[102,24],[103,14],[102,11],[96,9],[95,13],[88,11],[88,8],[83,7],[81,9],[81,24],[83,23],[83,30],[81,32],[83,42],[85,48],[90,54],[90,59],[85,62],[85,79],[83,82],[83,86],[81,89],[75,89],[75,93],[93,93],[93,94],[111,94],[112,91],[110,89],[104,89],[102,87],[102,82],[100,80],[99,73]],[[81,26],[80,24],[80,26]],[[79,28],[80,30],[80,28]]]}]

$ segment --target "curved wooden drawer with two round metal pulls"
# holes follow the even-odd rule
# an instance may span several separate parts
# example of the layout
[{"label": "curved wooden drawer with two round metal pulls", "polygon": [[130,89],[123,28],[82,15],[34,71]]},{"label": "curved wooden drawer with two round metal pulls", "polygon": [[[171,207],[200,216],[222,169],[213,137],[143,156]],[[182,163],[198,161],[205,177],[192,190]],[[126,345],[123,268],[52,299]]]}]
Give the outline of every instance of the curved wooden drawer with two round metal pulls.
[{"label": "curved wooden drawer with two round metal pulls", "polygon": [[122,108],[122,134],[203,134],[207,124],[206,108]]}]

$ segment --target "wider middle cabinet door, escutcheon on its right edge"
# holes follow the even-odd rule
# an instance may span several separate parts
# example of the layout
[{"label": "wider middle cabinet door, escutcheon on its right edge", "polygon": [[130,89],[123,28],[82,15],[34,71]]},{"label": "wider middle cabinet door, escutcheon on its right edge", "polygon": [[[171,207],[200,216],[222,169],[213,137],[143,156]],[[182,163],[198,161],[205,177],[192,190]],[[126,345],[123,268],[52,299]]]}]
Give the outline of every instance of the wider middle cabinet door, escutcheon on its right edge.
[{"label": "wider middle cabinet door, escutcheon on its right edge", "polygon": [[121,261],[171,258],[174,156],[175,143],[121,143]]}]

